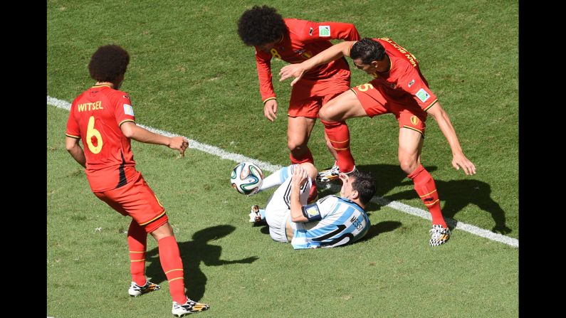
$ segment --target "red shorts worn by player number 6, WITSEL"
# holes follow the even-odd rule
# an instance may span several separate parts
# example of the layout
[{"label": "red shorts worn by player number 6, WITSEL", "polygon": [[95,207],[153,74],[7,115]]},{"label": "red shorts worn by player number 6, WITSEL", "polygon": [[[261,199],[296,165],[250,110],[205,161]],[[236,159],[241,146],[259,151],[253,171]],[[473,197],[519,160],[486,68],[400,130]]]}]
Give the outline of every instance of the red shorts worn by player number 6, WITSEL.
[{"label": "red shorts worn by player number 6, WITSEL", "polygon": [[122,216],[131,216],[147,233],[152,233],[168,221],[165,209],[145,182],[141,172],[134,181],[103,192],[94,192]]}]

